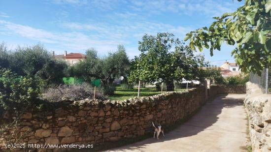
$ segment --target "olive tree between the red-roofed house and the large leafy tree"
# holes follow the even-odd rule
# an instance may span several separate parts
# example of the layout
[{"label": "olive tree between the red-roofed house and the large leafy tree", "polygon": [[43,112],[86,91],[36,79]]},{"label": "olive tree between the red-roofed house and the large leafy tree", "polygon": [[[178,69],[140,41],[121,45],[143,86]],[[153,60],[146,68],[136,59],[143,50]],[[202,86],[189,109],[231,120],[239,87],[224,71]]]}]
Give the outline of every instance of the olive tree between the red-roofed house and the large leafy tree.
[{"label": "olive tree between the red-roofed house and the large leafy tree", "polygon": [[101,79],[103,85],[112,84],[120,76],[127,77],[130,61],[123,45],[118,45],[116,52],[98,57],[97,51],[88,49],[87,59],[71,66],[70,73],[87,80]]}]

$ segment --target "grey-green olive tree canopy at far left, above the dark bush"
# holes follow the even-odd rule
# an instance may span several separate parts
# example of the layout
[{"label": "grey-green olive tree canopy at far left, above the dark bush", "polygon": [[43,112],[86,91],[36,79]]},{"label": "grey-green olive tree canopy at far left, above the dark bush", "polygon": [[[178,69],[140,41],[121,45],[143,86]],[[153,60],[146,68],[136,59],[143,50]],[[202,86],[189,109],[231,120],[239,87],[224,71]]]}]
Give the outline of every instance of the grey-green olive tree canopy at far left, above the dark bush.
[{"label": "grey-green olive tree canopy at far left, above the dark bush", "polygon": [[0,44],[0,68],[11,69],[20,76],[43,79],[49,83],[60,83],[65,76],[67,62],[55,59],[42,45],[8,50]]}]

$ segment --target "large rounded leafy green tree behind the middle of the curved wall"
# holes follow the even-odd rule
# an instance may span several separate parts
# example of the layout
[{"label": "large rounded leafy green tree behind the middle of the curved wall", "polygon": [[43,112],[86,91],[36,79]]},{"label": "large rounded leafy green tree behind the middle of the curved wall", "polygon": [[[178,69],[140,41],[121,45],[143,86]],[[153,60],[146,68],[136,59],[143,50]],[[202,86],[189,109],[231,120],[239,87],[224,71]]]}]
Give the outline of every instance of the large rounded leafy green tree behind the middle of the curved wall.
[{"label": "large rounded leafy green tree behind the middle of the curved wall", "polygon": [[195,79],[198,67],[203,65],[202,56],[194,55],[170,33],[146,34],[138,44],[141,54],[132,61],[130,82],[165,82],[167,91],[172,91],[173,80]]}]

